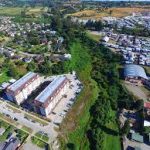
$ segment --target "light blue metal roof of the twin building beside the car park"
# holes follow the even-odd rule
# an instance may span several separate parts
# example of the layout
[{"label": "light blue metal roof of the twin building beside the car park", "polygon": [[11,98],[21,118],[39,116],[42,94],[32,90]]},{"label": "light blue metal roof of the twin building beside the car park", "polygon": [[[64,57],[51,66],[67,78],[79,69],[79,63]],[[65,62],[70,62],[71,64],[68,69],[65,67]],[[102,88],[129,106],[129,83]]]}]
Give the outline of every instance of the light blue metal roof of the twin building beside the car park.
[{"label": "light blue metal roof of the twin building beside the car park", "polygon": [[49,96],[57,89],[58,86],[66,79],[65,76],[56,77],[36,98],[35,100],[44,103]]}]

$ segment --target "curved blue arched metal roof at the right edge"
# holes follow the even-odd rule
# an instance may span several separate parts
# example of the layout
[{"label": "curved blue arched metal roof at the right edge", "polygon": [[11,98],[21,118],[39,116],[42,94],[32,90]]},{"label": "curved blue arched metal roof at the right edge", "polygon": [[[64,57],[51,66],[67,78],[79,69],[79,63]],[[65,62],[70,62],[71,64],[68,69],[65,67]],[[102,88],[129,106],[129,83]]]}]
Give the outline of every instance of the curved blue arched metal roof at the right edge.
[{"label": "curved blue arched metal roof at the right edge", "polygon": [[148,79],[145,70],[139,65],[125,65],[124,67],[124,76],[125,77],[141,77],[144,79]]}]

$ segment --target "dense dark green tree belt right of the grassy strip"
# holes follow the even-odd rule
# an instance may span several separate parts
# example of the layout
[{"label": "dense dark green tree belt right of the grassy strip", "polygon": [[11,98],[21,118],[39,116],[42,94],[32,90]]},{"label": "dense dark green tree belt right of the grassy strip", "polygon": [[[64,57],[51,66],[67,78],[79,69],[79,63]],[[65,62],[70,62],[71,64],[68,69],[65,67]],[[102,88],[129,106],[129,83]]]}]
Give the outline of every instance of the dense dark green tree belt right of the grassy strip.
[{"label": "dense dark green tree belt right of the grassy strip", "polygon": [[[112,53],[103,45],[97,45],[97,43],[88,38],[81,37],[81,39],[91,49],[93,64],[91,75],[100,90],[99,97],[90,111],[92,120],[87,133],[90,148],[102,150],[106,130],[113,135],[119,135],[119,132],[107,128],[107,124],[110,121],[115,121],[111,112],[117,112],[118,107],[122,107],[122,105],[131,107],[133,98],[120,84],[119,69],[117,67],[118,62],[121,60],[120,56]],[[125,129],[128,128],[125,126]]]}]

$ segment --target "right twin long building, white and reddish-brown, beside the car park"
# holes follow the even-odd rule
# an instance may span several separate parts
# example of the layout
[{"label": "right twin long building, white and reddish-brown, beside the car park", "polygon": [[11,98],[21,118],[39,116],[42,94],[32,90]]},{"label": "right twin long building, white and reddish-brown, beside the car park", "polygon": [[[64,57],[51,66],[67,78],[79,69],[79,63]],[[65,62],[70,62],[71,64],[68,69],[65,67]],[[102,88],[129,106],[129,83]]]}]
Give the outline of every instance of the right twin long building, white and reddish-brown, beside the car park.
[{"label": "right twin long building, white and reddish-brown, beside the car park", "polygon": [[69,80],[66,76],[56,77],[34,100],[35,111],[48,116],[67,92]]}]

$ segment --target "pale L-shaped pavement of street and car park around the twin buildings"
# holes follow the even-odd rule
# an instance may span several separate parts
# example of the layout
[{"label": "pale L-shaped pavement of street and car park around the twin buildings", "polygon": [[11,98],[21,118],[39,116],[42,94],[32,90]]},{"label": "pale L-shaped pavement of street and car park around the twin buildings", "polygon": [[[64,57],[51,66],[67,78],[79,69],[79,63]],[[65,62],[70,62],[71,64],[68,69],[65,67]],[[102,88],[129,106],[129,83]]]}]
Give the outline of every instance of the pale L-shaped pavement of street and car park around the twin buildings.
[{"label": "pale L-shaped pavement of street and car park around the twin buildings", "polygon": [[55,129],[59,127],[59,124],[62,122],[69,109],[71,109],[72,105],[76,100],[76,96],[80,93],[82,89],[82,85],[75,75],[67,74],[66,76],[70,81],[70,86],[67,89],[66,94],[62,95],[62,99],[56,105],[53,112],[48,116],[51,122],[46,122],[47,125],[43,126],[39,122],[35,122],[31,119],[28,119],[27,117],[25,117],[26,115],[31,115],[31,117],[36,116],[33,116],[29,112],[26,112],[22,109],[16,108],[19,110],[19,112],[14,112],[9,107],[11,106],[11,104],[7,103],[6,101],[0,103],[0,113],[2,113],[3,115],[7,115],[13,120],[15,120],[18,123],[18,128],[21,128],[21,126],[25,125],[33,130],[32,134],[35,134],[39,131],[43,131],[47,133],[49,137],[49,142],[54,141],[58,135]]}]

